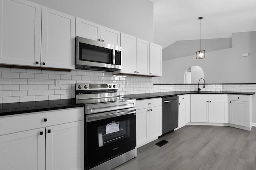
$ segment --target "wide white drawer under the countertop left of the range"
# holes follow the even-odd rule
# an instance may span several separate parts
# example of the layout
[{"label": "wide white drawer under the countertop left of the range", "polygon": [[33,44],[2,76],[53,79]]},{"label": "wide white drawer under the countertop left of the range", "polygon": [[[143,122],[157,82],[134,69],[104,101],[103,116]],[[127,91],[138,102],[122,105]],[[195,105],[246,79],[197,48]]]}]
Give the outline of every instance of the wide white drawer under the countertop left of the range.
[{"label": "wide white drawer under the countertop left of the range", "polygon": [[[47,121],[44,121],[44,118]],[[84,119],[84,107],[42,111],[0,118],[0,135]]]}]

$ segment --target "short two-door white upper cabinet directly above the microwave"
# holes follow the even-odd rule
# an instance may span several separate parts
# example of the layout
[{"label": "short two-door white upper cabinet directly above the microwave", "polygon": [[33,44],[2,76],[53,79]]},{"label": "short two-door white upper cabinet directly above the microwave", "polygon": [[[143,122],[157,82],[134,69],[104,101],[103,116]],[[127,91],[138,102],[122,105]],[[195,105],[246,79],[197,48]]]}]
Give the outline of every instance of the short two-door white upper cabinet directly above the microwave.
[{"label": "short two-door white upper cabinet directly above the microwave", "polygon": [[120,46],[120,31],[76,17],[76,36]]}]

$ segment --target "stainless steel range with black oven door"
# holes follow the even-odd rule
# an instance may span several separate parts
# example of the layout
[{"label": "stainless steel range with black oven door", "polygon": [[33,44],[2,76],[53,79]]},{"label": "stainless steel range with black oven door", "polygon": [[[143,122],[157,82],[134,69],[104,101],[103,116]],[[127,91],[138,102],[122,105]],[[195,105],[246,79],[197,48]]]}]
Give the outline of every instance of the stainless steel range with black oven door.
[{"label": "stainless steel range with black oven door", "polygon": [[117,84],[76,84],[76,103],[85,104],[86,170],[110,170],[137,156],[136,100],[117,90]]}]

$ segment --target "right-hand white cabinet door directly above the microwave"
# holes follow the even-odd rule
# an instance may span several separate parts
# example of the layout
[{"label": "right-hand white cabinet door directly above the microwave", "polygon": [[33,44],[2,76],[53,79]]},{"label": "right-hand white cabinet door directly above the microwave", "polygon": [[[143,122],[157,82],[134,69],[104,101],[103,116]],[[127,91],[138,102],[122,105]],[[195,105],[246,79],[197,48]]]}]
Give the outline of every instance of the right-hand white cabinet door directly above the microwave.
[{"label": "right-hand white cabinet door directly above the microwave", "polygon": [[117,45],[120,47],[121,32],[101,26],[101,41],[104,43]]}]

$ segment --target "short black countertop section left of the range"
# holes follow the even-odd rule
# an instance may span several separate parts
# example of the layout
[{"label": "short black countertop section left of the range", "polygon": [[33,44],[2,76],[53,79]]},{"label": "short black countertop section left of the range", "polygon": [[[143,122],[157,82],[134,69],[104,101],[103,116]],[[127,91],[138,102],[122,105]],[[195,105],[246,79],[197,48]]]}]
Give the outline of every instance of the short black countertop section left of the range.
[{"label": "short black countertop section left of the range", "polygon": [[83,107],[84,104],[76,104],[75,99],[44,100],[36,102],[18,102],[0,104],[0,116]]}]

